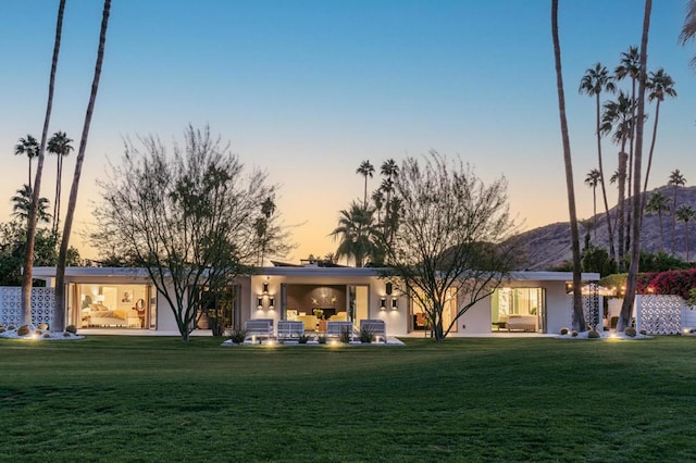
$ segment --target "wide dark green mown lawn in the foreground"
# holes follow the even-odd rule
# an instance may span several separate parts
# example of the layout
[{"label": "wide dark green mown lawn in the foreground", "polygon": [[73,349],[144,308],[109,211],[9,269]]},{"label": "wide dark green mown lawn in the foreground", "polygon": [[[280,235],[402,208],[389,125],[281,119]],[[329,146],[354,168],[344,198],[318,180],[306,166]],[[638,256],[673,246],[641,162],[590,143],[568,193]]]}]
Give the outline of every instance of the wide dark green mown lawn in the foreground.
[{"label": "wide dark green mown lawn in the foreground", "polygon": [[696,338],[0,340],[0,460],[686,461]]}]

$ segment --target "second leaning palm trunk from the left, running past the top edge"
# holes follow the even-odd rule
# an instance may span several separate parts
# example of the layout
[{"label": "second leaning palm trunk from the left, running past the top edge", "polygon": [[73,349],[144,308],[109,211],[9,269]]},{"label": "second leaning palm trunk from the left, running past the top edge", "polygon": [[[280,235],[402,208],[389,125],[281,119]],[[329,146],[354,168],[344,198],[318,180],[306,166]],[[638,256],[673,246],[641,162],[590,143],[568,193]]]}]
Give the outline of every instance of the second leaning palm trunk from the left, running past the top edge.
[{"label": "second leaning palm trunk from the left, running past the top edge", "polygon": [[57,330],[63,329],[65,325],[65,260],[67,258],[67,246],[70,243],[70,235],[73,227],[73,216],[75,215],[75,204],[77,203],[77,189],[79,187],[79,176],[82,174],[83,161],[85,159],[85,150],[87,148],[89,126],[91,125],[91,115],[95,110],[95,101],[97,100],[97,90],[99,90],[99,77],[101,76],[101,63],[104,58],[104,43],[107,41],[110,9],[111,0],[104,0],[101,32],[99,35],[99,49],[97,51],[97,64],[95,66],[95,78],[91,84],[89,103],[87,104],[85,124],[83,125],[83,135],[79,140],[77,159],[75,160],[75,173],[73,175],[73,185],[70,190],[70,200],[67,202],[67,211],[65,212],[65,225],[63,227],[61,249],[58,254],[58,265],[55,267],[55,313],[53,314],[53,325]]}]

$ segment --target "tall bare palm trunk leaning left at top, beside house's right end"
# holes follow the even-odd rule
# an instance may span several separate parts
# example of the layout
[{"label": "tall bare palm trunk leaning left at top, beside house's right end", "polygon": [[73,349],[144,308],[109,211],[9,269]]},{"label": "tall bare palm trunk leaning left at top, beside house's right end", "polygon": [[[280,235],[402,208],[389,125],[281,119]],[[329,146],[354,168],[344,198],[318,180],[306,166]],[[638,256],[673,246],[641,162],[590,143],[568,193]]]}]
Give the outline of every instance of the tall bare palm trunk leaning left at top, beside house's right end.
[{"label": "tall bare palm trunk leaning left at top, beside house's right end", "polygon": [[[577,214],[575,212],[575,189],[573,186],[573,163],[566,117],[566,95],[563,92],[563,72],[561,68],[561,46],[558,38],[558,0],[551,1],[551,36],[554,40],[554,61],[556,63],[556,88],[558,90],[558,113],[563,143],[563,164],[566,166],[566,187],[568,190],[568,210],[570,213],[570,230],[573,249],[573,328],[584,331],[585,316],[582,300],[582,267],[580,262],[580,234],[577,232]],[[582,88],[582,85],[581,85]],[[599,123],[597,123],[599,125]],[[599,128],[599,127],[597,127]],[[597,130],[599,136],[599,130]],[[601,159],[601,158],[600,158]],[[601,161],[599,163],[601,165]],[[600,171],[601,172],[601,171]]]}]

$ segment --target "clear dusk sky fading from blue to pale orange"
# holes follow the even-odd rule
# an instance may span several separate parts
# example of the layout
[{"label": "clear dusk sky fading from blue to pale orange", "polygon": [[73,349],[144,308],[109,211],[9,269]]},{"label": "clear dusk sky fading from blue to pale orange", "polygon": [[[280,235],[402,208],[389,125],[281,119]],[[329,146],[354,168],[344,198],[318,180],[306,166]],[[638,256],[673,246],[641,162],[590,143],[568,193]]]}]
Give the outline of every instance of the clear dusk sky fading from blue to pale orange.
[{"label": "clear dusk sky fading from blue to pale orange", "polygon": [[[40,137],[58,3],[0,1],[0,221],[10,220],[10,198],[28,177],[14,146],[26,134]],[[643,2],[559,3],[582,218],[593,214],[583,182],[597,153],[595,102],[577,87],[586,68],[613,70],[639,43]],[[679,96],[661,105],[649,188],[675,168],[687,186],[696,182],[696,68],[688,65],[696,42],[678,40],[685,11],[686,0],[654,2],[648,68],[664,67]],[[67,0],[51,134],[80,137],[101,13],[100,1]],[[654,104],[646,111],[651,117]],[[278,185],[277,212],[297,245],[291,262],[335,251],[330,234],[338,211],[362,198],[356,168],[363,160],[378,170],[430,150],[461,157],[485,183],[507,178],[522,229],[569,217],[550,1],[114,0],[71,237],[83,256],[98,258],[80,230],[94,225],[95,183],[121,162],[124,138],[171,141],[189,124],[209,125]],[[608,139],[602,148],[610,175],[618,149]],[[63,211],[74,161],[64,162]],[[49,157],[41,196],[51,203],[54,171]],[[375,176],[369,188],[378,185]]]}]

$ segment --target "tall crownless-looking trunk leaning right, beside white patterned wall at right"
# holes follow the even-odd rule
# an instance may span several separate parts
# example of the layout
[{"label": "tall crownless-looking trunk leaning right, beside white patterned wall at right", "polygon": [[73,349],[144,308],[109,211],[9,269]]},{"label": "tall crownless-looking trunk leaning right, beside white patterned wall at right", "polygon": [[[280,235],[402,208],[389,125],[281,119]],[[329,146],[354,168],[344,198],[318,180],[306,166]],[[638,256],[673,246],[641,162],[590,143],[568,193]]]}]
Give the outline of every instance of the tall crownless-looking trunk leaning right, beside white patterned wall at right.
[{"label": "tall crownless-looking trunk leaning right, beside white patterned wall at right", "polygon": [[631,266],[626,279],[626,292],[621,305],[621,314],[617,329],[625,330],[631,321],[631,312],[635,302],[635,290],[638,283],[638,266],[641,255],[641,217],[643,200],[641,197],[641,168],[643,159],[643,128],[645,125],[645,82],[648,53],[648,32],[650,29],[650,10],[652,0],[645,0],[645,15],[643,18],[643,37],[641,40],[641,74],[638,78],[638,112],[635,127],[635,167],[633,178],[633,241],[631,242]]}]

